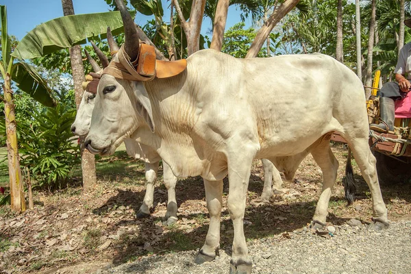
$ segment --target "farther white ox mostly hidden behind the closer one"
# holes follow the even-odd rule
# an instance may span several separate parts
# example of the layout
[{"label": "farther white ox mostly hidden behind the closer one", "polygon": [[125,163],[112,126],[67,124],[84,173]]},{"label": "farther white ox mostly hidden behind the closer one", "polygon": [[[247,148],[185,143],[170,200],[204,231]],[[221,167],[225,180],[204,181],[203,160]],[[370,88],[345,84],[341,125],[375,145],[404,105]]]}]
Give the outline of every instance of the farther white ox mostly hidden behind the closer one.
[{"label": "farther white ox mostly hidden behind the closer one", "polygon": [[[110,28],[108,28],[108,41],[110,51],[115,52],[119,50],[118,46],[114,42],[114,39],[112,39]],[[108,62],[104,53],[102,53],[98,47],[95,47],[93,43],[92,45],[95,48],[101,63],[104,64],[105,62]],[[92,69],[96,72],[95,75],[101,75],[103,70],[99,67],[97,62],[90,57],[87,51],[85,51],[85,53],[89,62],[92,64]],[[75,121],[71,126],[71,132],[73,132],[73,134],[77,136],[86,136],[88,134],[92,110],[95,106],[95,96],[95,92],[84,90],[82,101],[80,102],[77,114],[75,116]],[[153,207],[154,184],[155,179],[157,179],[158,166],[161,158],[154,149],[146,145],[142,145],[136,140],[125,138],[123,142],[129,156],[145,162],[145,178],[147,180],[146,192],[142,205],[136,214],[137,218],[145,218],[150,215],[150,209]],[[264,169],[264,188],[261,199],[268,202],[273,192],[271,188],[272,182],[274,182],[273,187],[276,190],[281,190],[282,179],[277,169],[275,169],[275,166],[273,166],[269,160],[263,159],[262,165]],[[298,164],[292,166],[292,172],[286,173],[286,179],[292,179],[292,177],[294,177],[297,167]],[[175,198],[175,185],[177,183],[177,177],[175,177],[169,165],[165,162],[163,162],[163,177],[164,185],[166,186],[168,192],[167,211],[164,216],[164,221],[166,221],[166,225],[171,225],[177,221],[177,200]]]}]

